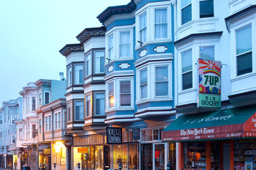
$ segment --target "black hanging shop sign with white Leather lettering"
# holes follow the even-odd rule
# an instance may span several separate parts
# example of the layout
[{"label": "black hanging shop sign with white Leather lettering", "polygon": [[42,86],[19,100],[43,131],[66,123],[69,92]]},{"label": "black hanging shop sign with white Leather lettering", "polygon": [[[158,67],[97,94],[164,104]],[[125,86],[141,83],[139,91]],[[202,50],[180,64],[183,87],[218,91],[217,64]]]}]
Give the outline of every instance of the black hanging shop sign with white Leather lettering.
[{"label": "black hanging shop sign with white Leather lettering", "polygon": [[122,127],[106,127],[107,143],[122,143]]}]

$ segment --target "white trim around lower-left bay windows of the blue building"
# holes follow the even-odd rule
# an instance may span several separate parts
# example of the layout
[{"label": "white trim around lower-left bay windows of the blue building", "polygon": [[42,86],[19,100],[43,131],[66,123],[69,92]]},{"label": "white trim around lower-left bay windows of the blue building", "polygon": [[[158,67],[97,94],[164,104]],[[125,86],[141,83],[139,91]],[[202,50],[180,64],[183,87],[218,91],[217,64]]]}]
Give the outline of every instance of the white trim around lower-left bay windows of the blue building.
[{"label": "white trim around lower-left bay windows of the blue building", "polygon": [[[120,104],[120,81],[131,81],[131,106],[121,106]],[[109,108],[109,96],[108,96],[108,85],[113,83],[114,88],[114,107]],[[133,76],[127,76],[124,78],[114,78],[110,81],[106,81],[106,112],[113,110],[134,110],[134,80]]]}]

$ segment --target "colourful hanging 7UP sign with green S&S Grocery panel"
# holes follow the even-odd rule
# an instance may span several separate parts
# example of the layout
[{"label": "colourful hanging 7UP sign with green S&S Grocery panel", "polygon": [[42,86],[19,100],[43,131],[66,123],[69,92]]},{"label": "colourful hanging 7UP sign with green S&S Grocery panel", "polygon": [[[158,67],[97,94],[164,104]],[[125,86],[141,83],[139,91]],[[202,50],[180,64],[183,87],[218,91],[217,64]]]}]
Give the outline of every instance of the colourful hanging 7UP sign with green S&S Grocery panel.
[{"label": "colourful hanging 7UP sign with green S&S Grocery panel", "polygon": [[221,108],[221,62],[198,60],[198,107]]}]

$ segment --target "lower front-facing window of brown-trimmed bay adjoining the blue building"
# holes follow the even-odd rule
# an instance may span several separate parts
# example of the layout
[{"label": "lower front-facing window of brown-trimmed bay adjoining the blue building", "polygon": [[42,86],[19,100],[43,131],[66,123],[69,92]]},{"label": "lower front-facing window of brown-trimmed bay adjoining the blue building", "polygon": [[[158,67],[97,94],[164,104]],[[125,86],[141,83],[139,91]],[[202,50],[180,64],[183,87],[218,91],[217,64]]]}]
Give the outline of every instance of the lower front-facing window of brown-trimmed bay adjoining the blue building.
[{"label": "lower front-facing window of brown-trimmed bay adjoining the blue building", "polygon": [[105,94],[104,92],[94,93],[95,115],[105,115]]}]

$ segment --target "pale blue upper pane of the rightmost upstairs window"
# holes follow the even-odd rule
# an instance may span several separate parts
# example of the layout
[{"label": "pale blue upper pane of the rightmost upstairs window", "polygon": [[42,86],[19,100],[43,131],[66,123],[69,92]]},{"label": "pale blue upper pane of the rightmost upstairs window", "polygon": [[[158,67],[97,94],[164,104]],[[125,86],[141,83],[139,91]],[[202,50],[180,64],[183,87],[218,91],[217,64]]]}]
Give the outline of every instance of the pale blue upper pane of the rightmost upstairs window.
[{"label": "pale blue upper pane of the rightmost upstairs window", "polygon": [[252,50],[252,26],[236,31],[236,53],[244,53]]}]

